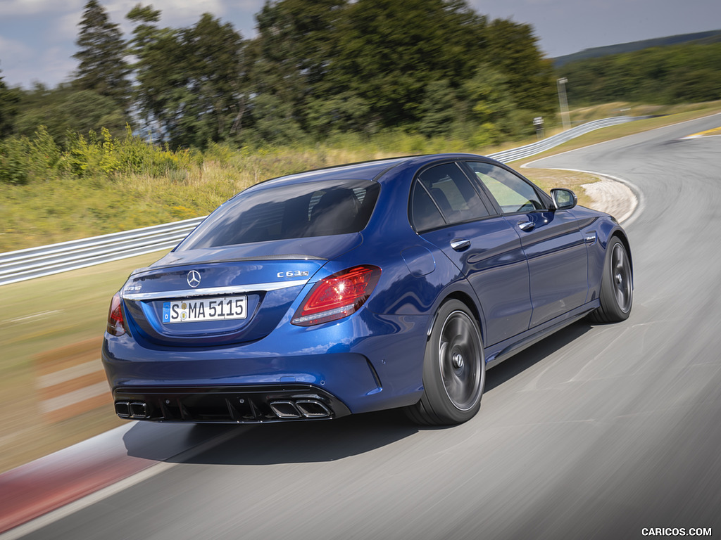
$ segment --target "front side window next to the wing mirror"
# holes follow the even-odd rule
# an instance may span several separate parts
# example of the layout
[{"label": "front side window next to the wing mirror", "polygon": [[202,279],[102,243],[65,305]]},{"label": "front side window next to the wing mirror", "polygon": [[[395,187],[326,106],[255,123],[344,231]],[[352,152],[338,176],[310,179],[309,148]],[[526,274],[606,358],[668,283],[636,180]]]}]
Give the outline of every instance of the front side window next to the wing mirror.
[{"label": "front side window next to the wing mirror", "polygon": [[520,176],[492,163],[472,161],[467,165],[476,174],[477,179],[486,186],[504,214],[545,209],[546,205],[534,186]]}]

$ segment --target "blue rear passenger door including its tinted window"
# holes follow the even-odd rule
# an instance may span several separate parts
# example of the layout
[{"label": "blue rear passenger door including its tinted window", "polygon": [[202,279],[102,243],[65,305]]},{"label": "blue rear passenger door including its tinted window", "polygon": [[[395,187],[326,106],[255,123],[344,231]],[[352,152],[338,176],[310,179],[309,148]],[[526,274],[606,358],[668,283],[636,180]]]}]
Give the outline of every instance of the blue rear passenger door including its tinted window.
[{"label": "blue rear passenger door including its tinted window", "polygon": [[416,232],[443,251],[476,292],[486,346],[528,329],[531,296],[521,240],[507,220],[494,215],[459,163],[441,163],[417,175],[410,213]]}]

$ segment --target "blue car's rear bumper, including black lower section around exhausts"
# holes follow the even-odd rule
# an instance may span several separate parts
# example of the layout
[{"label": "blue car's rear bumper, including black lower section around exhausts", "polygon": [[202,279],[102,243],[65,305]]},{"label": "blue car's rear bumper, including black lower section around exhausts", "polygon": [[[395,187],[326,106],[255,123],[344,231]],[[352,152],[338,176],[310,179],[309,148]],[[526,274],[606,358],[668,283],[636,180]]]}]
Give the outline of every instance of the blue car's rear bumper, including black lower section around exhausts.
[{"label": "blue car's rear bumper, including black lower section around exhausts", "polygon": [[[309,395],[320,396],[319,402],[330,411],[327,418],[337,418],[346,411],[366,413],[417,402],[423,392],[425,318],[390,318],[368,312],[355,315],[342,323],[311,330],[291,328],[236,346],[159,347],[141,342],[129,333],[123,336],[106,333],[102,361],[115,401],[122,402],[123,418],[270,421],[273,418],[267,418],[265,408],[270,407],[270,402],[265,397],[257,407],[260,413],[254,413],[252,418],[248,411],[235,410],[239,399],[247,399],[244,394],[256,396],[255,390],[262,393],[267,389],[275,392],[270,396],[274,400],[291,402],[283,405],[282,410],[281,405],[276,406],[288,414],[280,418],[291,420],[321,417],[304,415],[293,397],[283,393],[285,389],[293,393],[300,388]],[[227,416],[218,413],[223,419],[214,420],[216,413],[212,413],[194,420],[191,418],[197,417],[195,413],[189,410],[190,414],[185,415],[177,404],[174,413],[163,411],[162,405],[177,401],[176,395],[186,396],[182,397],[183,403],[192,403],[189,396],[193,394],[205,395],[204,404],[228,410]],[[156,396],[162,397],[162,402]],[[138,405],[133,414],[133,402],[144,402],[147,410]],[[322,406],[309,405],[318,413],[323,411]],[[295,410],[301,418],[294,418]]]}]

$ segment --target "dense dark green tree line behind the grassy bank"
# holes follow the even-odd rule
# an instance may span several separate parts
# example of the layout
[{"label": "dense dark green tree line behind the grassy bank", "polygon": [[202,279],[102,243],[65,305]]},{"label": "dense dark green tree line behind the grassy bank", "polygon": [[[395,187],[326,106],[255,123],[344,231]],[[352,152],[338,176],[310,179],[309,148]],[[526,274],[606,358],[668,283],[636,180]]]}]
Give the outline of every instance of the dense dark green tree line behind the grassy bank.
[{"label": "dense dark green tree line behind the grassy bank", "polygon": [[531,26],[489,21],[466,0],[268,0],[252,40],[211,14],[185,28],[163,27],[151,5],[126,17],[124,38],[87,1],[69,83],[7,89],[0,78],[0,136],[45,125],[65,144],[129,122],[171,148],[396,129],[492,143],[533,132],[555,106]]}]

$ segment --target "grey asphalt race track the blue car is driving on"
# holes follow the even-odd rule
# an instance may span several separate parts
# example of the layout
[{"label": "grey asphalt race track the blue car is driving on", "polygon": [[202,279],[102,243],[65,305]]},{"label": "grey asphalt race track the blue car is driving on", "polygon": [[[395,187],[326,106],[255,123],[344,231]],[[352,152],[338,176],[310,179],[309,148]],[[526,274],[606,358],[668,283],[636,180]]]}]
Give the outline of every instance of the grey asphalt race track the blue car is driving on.
[{"label": "grey asphalt race track the blue car is driving on", "polygon": [[[534,163],[636,186],[634,311],[617,325],[572,325],[490,370],[468,423],[419,429],[383,413],[211,426],[221,444],[27,538],[721,535],[721,138],[678,140],[720,124]],[[128,453],[153,459],[147,446]]]}]

